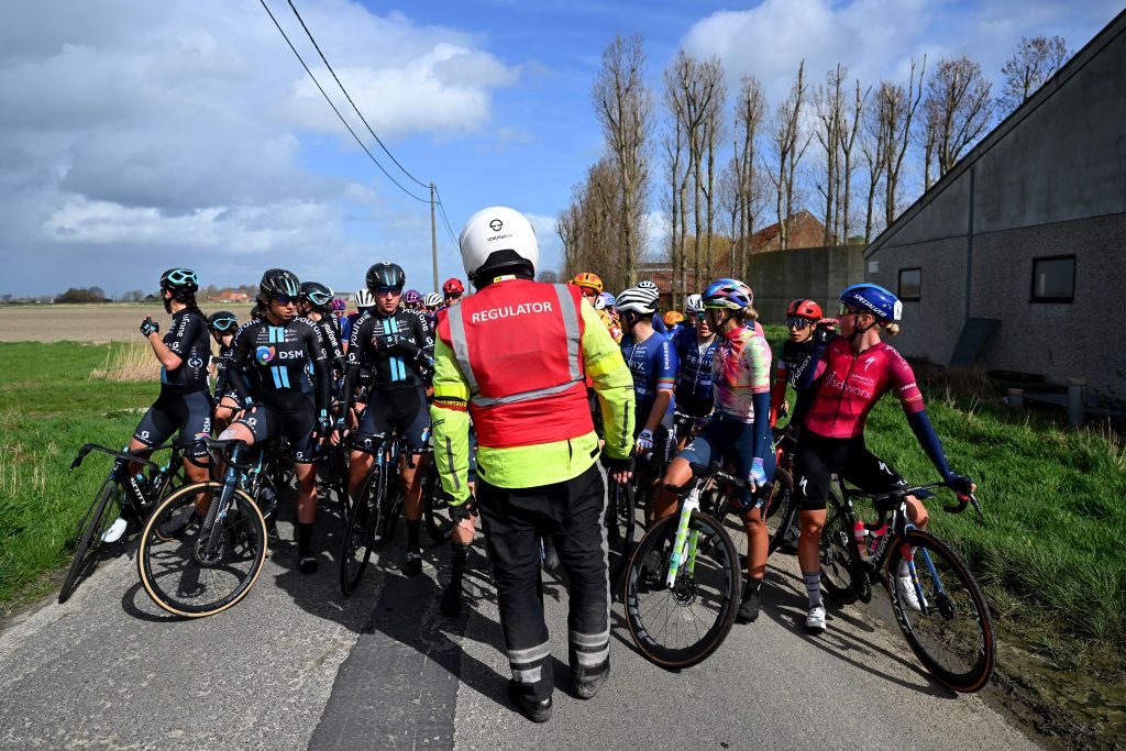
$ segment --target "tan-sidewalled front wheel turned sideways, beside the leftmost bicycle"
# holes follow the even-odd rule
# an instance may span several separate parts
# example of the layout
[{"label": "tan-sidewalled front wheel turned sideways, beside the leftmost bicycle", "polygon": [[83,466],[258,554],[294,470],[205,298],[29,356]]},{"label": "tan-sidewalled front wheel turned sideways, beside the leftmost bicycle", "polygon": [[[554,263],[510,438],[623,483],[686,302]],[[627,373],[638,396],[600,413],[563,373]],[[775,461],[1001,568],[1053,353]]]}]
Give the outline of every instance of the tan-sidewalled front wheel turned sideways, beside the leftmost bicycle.
[{"label": "tan-sidewalled front wheel turned sideways, beside the leftmost bicycle", "polygon": [[194,520],[171,536],[159,531],[162,524],[191,513],[200,493],[211,493],[212,503],[220,503],[224,490],[214,480],[179,488],[157,504],[141,530],[141,583],[169,613],[186,618],[222,613],[244,598],[261,573],[266,520],[240,489],[233,490],[225,515],[212,525]]}]

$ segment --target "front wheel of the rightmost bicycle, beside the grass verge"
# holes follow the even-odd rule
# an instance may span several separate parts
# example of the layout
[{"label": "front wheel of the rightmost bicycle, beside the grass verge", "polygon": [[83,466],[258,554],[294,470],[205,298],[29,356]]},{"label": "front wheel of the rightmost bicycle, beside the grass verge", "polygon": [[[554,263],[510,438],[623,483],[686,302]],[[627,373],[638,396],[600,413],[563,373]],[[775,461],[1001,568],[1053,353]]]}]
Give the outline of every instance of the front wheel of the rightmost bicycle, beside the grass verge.
[{"label": "front wheel of the rightmost bicycle, beside the grass verge", "polygon": [[[899,565],[908,560],[918,579],[913,591],[900,584]],[[993,619],[973,574],[946,543],[918,529],[908,530],[906,544],[894,540],[887,591],[900,629],[931,676],[960,692],[989,682],[997,651]]]}]

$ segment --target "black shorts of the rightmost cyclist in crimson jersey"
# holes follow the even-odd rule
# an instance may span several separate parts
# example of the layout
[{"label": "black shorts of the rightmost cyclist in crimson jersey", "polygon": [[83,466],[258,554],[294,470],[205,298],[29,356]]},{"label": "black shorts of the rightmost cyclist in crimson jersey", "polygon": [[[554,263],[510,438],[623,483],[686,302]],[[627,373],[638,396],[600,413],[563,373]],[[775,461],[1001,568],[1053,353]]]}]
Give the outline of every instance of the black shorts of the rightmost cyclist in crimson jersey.
[{"label": "black shorts of the rightmost cyclist in crimson jersey", "polygon": [[886,493],[906,486],[895,470],[868,450],[864,436],[825,438],[803,430],[794,455],[797,508],[823,510],[833,474],[868,493]]}]

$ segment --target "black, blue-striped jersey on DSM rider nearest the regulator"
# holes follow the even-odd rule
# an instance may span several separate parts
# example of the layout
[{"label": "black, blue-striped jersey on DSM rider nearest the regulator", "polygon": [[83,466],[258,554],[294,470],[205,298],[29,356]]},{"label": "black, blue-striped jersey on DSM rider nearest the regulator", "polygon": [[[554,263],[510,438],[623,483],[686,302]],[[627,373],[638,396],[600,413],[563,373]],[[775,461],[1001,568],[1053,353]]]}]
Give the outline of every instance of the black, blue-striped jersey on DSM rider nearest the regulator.
[{"label": "black, blue-striped jersey on DSM rider nearest the regulator", "polygon": [[[381,348],[379,340],[393,346]],[[356,320],[348,341],[346,394],[365,356],[372,364],[373,388],[417,388],[426,385],[434,367],[434,338],[412,311],[400,309],[387,316],[367,311]]]}]

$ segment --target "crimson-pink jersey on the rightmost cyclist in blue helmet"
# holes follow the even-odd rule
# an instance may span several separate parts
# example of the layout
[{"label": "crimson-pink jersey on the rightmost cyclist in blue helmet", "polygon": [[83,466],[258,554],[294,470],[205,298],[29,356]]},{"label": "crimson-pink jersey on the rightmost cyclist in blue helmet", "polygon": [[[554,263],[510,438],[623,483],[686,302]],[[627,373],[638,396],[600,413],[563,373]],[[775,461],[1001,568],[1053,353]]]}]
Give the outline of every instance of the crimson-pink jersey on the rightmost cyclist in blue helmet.
[{"label": "crimson-pink jersey on the rightmost cyclist in blue helmet", "polygon": [[911,366],[884,342],[856,355],[849,340],[838,337],[815,364],[805,367],[815,367],[812,377],[817,378],[805,428],[819,436],[864,435],[868,412],[888,390],[895,390],[909,417],[926,409]]}]

